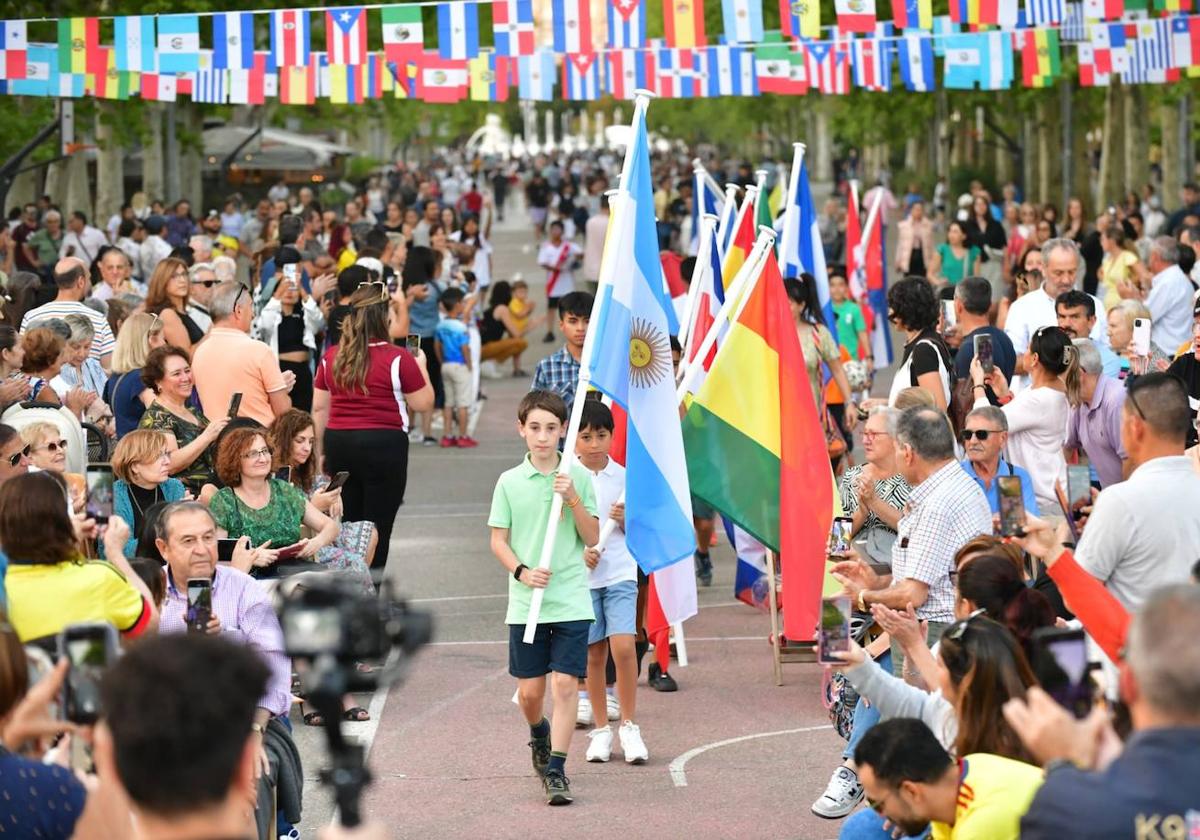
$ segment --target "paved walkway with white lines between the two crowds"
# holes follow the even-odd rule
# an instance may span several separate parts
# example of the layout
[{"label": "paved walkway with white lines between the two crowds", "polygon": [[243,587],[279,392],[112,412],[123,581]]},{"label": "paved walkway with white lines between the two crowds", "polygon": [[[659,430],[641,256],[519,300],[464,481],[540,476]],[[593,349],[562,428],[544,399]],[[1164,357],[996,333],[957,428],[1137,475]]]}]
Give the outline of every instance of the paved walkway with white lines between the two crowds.
[{"label": "paved walkway with white lines between the two crowds", "polygon": [[[522,272],[544,306],[533,250],[523,247],[528,235],[498,230],[493,244],[496,277]],[[535,342],[524,359],[530,371],[556,347],[540,336]],[[724,540],[714,550],[713,586],[700,590],[700,614],[686,624],[691,664],[673,671],[679,692],[640,688],[650,761],[625,766],[618,751],[608,764],[588,764],[578,730],[566,768],[575,804],[545,805],[528,730],[511,703],[506,578],[488,551],[486,524],[497,475],[524,451],[515,424],[528,386],[526,379],[485,380],[479,449],[410,452],[388,575],[434,613],[436,641],[403,685],[374,698],[376,720],[347,727],[373,738],[366,812],[397,838],[836,836],[839,822],[809,812],[842,746],[821,704],[821,670],[785,666],[785,685],[775,688],[769,622],[733,600]],[[331,816],[316,781],[323,733],[299,726],[298,740],[310,780],[301,828],[310,836]]]}]

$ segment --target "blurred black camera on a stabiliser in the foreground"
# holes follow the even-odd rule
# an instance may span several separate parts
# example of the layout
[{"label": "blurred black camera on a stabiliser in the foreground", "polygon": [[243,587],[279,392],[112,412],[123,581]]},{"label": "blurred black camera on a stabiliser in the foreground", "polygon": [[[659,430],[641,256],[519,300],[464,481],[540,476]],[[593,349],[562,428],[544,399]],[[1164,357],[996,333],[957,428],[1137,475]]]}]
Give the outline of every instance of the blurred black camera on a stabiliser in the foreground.
[{"label": "blurred black camera on a stabiliser in the foreground", "polygon": [[[337,574],[304,575],[281,590],[283,641],[305,697],[325,719],[334,766],[320,780],[334,788],[342,824],[361,821],[359,799],[371,781],[362,745],[342,733],[342,697],[400,682],[408,659],[433,636],[433,617],[410,610],[384,582],[372,598]],[[360,662],[383,662],[361,671]]]}]

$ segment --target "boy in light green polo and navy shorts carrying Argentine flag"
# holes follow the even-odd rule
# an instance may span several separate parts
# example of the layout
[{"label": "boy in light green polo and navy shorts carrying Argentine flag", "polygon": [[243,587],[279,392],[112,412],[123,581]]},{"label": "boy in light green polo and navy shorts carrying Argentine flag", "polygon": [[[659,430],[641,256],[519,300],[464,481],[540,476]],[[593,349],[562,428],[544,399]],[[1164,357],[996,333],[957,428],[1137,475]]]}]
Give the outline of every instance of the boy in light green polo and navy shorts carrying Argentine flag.
[{"label": "boy in light green polo and navy shorts carrying Argentine flag", "polygon": [[[509,673],[517,678],[521,710],[529,724],[534,770],[551,805],[571,803],[565,775],[566,750],[578,712],[578,680],[588,673],[592,593],[583,548],[600,539],[595,491],[578,464],[559,475],[558,440],[566,426],[566,404],[557,394],[529,391],[517,408],[517,433],[529,448],[524,460],[500,475],[492,493],[492,553],[509,572]],[[563,497],[550,569],[539,569],[553,493]],[[534,589],[545,589],[538,632],[523,641]],[[553,727],[542,707],[546,674],[554,698]]]}]

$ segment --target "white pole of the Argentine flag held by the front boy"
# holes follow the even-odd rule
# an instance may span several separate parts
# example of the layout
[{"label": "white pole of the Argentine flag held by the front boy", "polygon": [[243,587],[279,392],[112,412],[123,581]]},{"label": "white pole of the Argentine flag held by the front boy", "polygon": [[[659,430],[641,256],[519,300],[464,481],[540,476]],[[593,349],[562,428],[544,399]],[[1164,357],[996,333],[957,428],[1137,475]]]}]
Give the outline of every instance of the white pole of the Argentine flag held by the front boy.
[{"label": "white pole of the Argentine flag held by the front boy", "polygon": [[[638,119],[646,119],[646,109],[650,104],[650,97],[654,96],[650,91],[638,90],[634,98],[634,119],[630,124],[636,128]],[[630,179],[630,162],[632,160],[634,144],[630,143],[625,150],[625,162],[622,166],[620,172],[620,196],[618,196],[617,208],[612,208],[612,215],[616,216],[622,212],[625,208],[625,197],[629,194],[629,179]],[[611,202],[610,202],[611,206]],[[610,221],[610,224],[612,222]],[[583,340],[583,352],[580,354],[580,382],[575,389],[575,402],[571,403],[571,418],[566,426],[566,440],[563,443],[563,457],[558,464],[559,473],[570,473],[571,467],[575,463],[575,438],[578,436],[580,421],[583,419],[583,401],[587,395],[588,385],[592,384],[592,356],[595,353],[595,342],[599,340],[596,335],[595,324],[600,314],[600,301],[604,299],[605,289],[612,286],[613,282],[613,256],[605,250],[605,253],[600,258],[600,277],[596,288],[596,296],[592,301],[592,316],[588,322],[592,329],[588,330],[587,337]],[[539,569],[550,569],[551,554],[553,553],[554,540],[558,536],[558,521],[563,515],[563,497],[558,493],[553,493],[553,498],[550,500],[550,514],[546,517],[546,539],[541,544],[541,557],[538,560]],[[575,523],[571,523],[575,527]],[[538,632],[538,618],[541,614],[541,601],[546,596],[546,590],[534,589],[533,596],[529,601],[529,616],[526,620],[526,631],[523,641],[526,644],[533,644],[534,635]]]}]

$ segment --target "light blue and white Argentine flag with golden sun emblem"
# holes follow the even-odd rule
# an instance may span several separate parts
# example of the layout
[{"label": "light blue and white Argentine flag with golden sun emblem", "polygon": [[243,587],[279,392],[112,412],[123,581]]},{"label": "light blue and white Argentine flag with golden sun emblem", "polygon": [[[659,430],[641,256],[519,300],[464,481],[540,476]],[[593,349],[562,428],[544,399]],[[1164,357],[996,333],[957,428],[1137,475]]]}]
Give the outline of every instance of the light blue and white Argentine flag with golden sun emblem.
[{"label": "light blue and white Argentine flag with golden sun emblem", "polygon": [[638,110],[629,192],[613,208],[605,241],[614,280],[601,287],[592,329],[592,385],[629,415],[625,449],[625,545],[647,574],[696,548],[683,432],[671,365],[646,116]]}]

